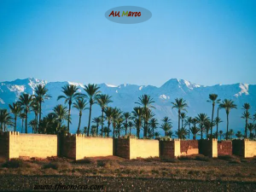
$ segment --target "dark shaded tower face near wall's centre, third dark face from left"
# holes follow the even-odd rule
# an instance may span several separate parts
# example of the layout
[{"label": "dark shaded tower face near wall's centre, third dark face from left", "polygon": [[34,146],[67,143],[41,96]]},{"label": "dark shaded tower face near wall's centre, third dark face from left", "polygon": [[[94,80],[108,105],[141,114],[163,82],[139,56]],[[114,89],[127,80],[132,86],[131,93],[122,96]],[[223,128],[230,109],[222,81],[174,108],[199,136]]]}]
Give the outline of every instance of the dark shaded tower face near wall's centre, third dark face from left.
[{"label": "dark shaded tower face near wall's centre, third dark face from left", "polygon": [[130,160],[130,139],[116,138],[113,140],[113,155]]}]

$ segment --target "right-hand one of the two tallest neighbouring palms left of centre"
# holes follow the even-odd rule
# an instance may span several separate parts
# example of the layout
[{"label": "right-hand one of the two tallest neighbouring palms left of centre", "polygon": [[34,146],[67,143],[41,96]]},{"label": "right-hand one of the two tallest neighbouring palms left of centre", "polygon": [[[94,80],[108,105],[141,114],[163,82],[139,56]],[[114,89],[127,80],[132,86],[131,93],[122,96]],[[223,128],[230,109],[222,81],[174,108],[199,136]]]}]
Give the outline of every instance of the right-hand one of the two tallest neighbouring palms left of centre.
[{"label": "right-hand one of the two tallest neighbouring palms left of centre", "polygon": [[99,95],[101,93],[99,89],[100,87],[98,87],[97,84],[84,85],[84,91],[86,92],[86,97],[89,99],[89,103],[90,103],[87,136],[89,136],[89,132],[90,132],[91,108],[92,108],[92,105],[95,104],[97,99],[99,98]]}]

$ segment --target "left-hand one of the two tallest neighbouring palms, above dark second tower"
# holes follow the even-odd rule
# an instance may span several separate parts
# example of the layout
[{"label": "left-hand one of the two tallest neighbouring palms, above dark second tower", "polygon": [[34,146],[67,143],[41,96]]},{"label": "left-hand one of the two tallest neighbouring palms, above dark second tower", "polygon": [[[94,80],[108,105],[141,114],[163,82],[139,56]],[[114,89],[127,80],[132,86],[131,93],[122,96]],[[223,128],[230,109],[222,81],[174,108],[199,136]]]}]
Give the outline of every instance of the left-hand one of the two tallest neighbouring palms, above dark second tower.
[{"label": "left-hand one of the two tallest neighbouring palms, above dark second tower", "polygon": [[[71,119],[70,112],[71,112],[71,106],[73,103],[73,100],[75,100],[77,97],[80,96],[80,93],[78,92],[79,88],[76,85],[73,84],[66,84],[62,87],[62,93],[64,93],[65,96],[58,96],[57,100],[65,99],[65,103],[68,103],[68,118]],[[67,120],[67,131],[69,132],[69,123],[71,120]]]}]

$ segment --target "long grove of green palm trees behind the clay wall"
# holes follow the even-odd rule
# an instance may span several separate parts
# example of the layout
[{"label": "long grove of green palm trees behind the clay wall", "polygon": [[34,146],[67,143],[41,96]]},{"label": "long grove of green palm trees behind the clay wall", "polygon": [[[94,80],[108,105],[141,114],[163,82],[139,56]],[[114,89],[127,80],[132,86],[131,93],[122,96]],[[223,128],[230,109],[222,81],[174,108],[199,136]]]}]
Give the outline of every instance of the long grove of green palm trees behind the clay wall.
[{"label": "long grove of green palm trees behind the clay wall", "polygon": [[[131,130],[136,130],[139,138],[143,131],[144,138],[160,137],[159,128],[165,133],[165,137],[178,137],[180,139],[190,138],[201,139],[207,138],[230,139],[234,136],[234,131],[229,129],[229,118],[231,109],[236,109],[236,104],[228,99],[221,101],[218,95],[210,94],[207,102],[212,104],[212,115],[207,113],[199,113],[195,117],[186,115],[189,108],[188,103],[183,98],[177,98],[172,104],[172,108],[177,109],[178,127],[177,131],[172,131],[172,120],[164,117],[160,121],[154,118],[154,100],[151,96],[139,96],[137,107],[131,112],[123,112],[120,108],[109,107],[109,103],[113,102],[112,97],[102,94],[100,87],[96,84],[88,84],[84,86],[85,94],[82,94],[79,88],[73,84],[67,84],[62,87],[62,94],[57,100],[64,100],[65,105],[56,105],[52,113],[48,113],[42,118],[42,106],[45,100],[51,96],[45,85],[38,84],[34,90],[34,95],[23,93],[17,102],[9,104],[10,113],[7,109],[0,109],[0,129],[7,131],[8,126],[13,126],[16,131],[17,119],[21,119],[21,132],[27,133],[27,127],[32,127],[33,133],[41,134],[59,134],[69,132],[72,123],[71,108],[75,108],[79,112],[79,122],[77,133],[84,133],[89,136],[100,137],[121,137],[121,135],[131,135]],[[102,109],[99,117],[91,118],[91,112],[94,105],[99,105]],[[222,123],[219,118],[219,110],[223,109],[226,113],[226,130],[218,130],[218,126]],[[242,106],[244,112],[241,118],[245,120],[245,128],[236,132],[236,137],[256,137],[256,113],[249,113],[250,104],[244,103]],[[89,110],[88,125],[81,128],[81,121],[84,119],[84,110]],[[217,115],[214,114],[217,111]],[[33,119],[27,122],[28,114],[33,113]],[[92,123],[92,125],[91,125]],[[214,131],[215,130],[215,131]],[[214,132],[213,132],[214,131]]]}]

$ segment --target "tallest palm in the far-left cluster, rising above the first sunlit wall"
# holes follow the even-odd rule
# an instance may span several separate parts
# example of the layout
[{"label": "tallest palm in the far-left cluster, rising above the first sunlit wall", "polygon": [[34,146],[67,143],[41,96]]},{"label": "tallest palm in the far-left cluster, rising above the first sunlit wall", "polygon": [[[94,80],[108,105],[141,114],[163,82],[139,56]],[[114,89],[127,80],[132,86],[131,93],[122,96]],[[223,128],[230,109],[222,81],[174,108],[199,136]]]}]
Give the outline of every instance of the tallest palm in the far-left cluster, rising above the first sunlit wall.
[{"label": "tallest palm in the far-left cluster, rising above the first sunlit wall", "polygon": [[38,84],[34,91],[35,91],[35,97],[39,102],[39,125],[40,125],[41,115],[42,115],[42,103],[44,102],[44,100],[49,99],[51,96],[47,94],[48,89],[43,84]]}]

